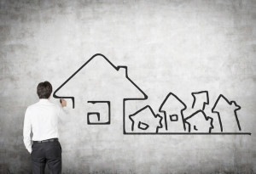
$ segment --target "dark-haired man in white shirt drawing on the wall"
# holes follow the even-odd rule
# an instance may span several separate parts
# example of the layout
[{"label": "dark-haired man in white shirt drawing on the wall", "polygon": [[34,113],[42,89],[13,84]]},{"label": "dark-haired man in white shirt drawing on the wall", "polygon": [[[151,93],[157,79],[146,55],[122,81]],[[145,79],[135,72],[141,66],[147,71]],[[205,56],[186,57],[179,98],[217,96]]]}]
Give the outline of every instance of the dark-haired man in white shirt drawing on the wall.
[{"label": "dark-haired man in white shirt drawing on the wall", "polygon": [[[32,157],[32,173],[44,173],[45,164],[50,173],[61,173],[61,144],[58,141],[58,117],[67,106],[61,98],[61,107],[49,102],[52,86],[49,81],[40,82],[37,87],[39,102],[26,109],[23,141]],[[32,131],[32,141],[30,133]]]}]

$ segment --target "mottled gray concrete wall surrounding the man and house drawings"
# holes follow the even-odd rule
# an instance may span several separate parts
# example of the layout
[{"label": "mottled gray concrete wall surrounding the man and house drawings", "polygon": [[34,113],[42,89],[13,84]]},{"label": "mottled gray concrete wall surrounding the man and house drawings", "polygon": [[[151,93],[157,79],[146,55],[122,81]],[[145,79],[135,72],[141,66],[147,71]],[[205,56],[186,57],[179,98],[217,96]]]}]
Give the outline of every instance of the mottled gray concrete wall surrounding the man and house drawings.
[{"label": "mottled gray concrete wall surrounding the man and house drawings", "polygon": [[256,172],[255,26],[253,0],[2,0],[0,170],[31,171],[22,126],[26,107],[38,101],[38,82],[59,87],[103,53],[127,65],[148,94],[137,109],[150,104],[157,112],[170,92],[190,106],[190,93],[201,90],[209,91],[209,109],[223,93],[241,105],[242,131],[253,134],[123,135],[119,102],[110,126],[88,126],[78,107],[60,126],[63,173]]}]

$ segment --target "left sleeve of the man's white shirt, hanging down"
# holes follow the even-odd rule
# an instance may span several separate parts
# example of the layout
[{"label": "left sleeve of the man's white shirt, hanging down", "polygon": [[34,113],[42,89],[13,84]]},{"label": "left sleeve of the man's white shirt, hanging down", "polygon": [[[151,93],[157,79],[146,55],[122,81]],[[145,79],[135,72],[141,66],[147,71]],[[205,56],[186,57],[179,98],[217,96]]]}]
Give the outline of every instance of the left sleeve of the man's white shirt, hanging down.
[{"label": "left sleeve of the man's white shirt, hanging down", "polygon": [[29,153],[32,153],[32,142],[30,138],[31,133],[31,120],[29,109],[26,109],[25,118],[24,118],[24,126],[23,126],[23,142],[25,147]]}]

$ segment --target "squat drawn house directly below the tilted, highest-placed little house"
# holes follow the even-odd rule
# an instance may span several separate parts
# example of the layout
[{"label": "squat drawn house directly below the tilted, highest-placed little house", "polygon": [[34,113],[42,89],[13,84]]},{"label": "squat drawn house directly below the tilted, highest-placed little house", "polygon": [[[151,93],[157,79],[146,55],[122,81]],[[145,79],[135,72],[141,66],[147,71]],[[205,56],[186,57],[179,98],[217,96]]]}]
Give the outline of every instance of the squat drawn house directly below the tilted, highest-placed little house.
[{"label": "squat drawn house directly below the tilted, highest-placed little house", "polygon": [[[214,128],[212,125],[212,117],[207,116],[203,110],[197,110],[195,113],[185,118],[185,122],[189,125],[189,132],[211,133],[212,129]],[[201,126],[199,122],[202,123],[203,126]]]}]

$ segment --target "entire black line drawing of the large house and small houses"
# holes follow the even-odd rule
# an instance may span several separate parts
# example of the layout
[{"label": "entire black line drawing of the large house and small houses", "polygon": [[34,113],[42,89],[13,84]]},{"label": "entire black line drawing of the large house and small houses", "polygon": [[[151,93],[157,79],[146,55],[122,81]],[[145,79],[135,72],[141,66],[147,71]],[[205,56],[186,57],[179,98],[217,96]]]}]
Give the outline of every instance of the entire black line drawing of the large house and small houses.
[{"label": "entire black line drawing of the large house and small houses", "polygon": [[[72,90],[80,87],[79,90]],[[89,93],[90,92],[90,93]],[[229,101],[220,94],[216,100],[212,113],[218,115],[216,118],[207,116],[205,109],[209,104],[208,91],[191,93],[194,98],[191,105],[192,113],[184,117],[184,110],[187,105],[174,93],[167,94],[163,103],[160,104],[160,114],[155,114],[151,106],[146,105],[142,109],[133,111],[133,114],[126,115],[125,105],[128,100],[146,100],[148,96],[128,76],[126,66],[113,65],[104,55],[96,53],[67,78],[60,87],[53,93],[54,98],[68,98],[73,102],[80,94],[86,95],[84,103],[94,106],[100,105],[87,113],[88,125],[110,125],[111,103],[115,98],[123,98],[123,133],[124,134],[242,134],[251,135],[250,132],[241,132],[241,126],[236,111],[241,109],[235,101]],[[111,106],[111,107],[110,107]],[[100,111],[101,110],[101,111]],[[131,111],[129,111],[131,113]],[[130,120],[125,125],[126,119]],[[218,119],[220,130],[213,126],[213,119]],[[129,127],[131,132],[128,132]]]}]

